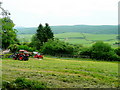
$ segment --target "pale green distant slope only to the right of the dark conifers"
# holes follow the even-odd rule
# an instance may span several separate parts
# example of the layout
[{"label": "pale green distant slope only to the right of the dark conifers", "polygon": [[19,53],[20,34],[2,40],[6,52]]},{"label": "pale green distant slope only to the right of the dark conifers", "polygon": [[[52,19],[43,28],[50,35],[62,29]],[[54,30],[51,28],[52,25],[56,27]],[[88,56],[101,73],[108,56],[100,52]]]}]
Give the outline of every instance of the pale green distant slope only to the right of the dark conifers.
[{"label": "pale green distant slope only to the right of the dark conifers", "polygon": [[[84,35],[83,35],[84,34]],[[96,40],[102,40],[106,43],[109,43],[110,45],[113,46],[113,44],[115,42],[117,42],[116,36],[117,34],[88,34],[88,33],[62,33],[62,34],[55,34],[54,36],[56,38],[66,38],[65,39],[60,39],[60,40],[64,40],[66,42],[72,43],[72,44],[83,44],[85,46],[91,46],[93,44],[93,41]],[[86,37],[87,40],[85,39],[74,39],[74,37]],[[73,37],[69,39],[69,37]],[[117,47],[117,46],[113,46],[113,47]]]}]

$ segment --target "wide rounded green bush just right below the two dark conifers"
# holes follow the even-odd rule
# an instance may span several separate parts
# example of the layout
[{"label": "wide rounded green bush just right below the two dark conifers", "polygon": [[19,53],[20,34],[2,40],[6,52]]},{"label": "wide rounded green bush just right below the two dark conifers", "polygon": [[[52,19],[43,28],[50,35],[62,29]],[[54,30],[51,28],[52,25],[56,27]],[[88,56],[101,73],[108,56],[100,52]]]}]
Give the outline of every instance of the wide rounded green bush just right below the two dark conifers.
[{"label": "wide rounded green bush just right below the two dark conifers", "polygon": [[58,39],[49,40],[42,47],[44,54],[73,54],[74,47],[68,43],[62,42]]}]

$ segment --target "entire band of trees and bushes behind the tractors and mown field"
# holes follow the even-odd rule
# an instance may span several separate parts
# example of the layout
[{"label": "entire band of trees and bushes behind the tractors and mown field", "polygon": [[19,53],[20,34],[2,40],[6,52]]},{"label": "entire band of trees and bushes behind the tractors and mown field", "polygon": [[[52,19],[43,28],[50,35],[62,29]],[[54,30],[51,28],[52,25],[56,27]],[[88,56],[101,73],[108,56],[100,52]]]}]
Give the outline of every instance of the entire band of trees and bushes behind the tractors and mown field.
[{"label": "entire band of trees and bushes behind the tractors and mown field", "polygon": [[43,54],[69,54],[89,56],[96,60],[119,61],[120,48],[113,49],[109,44],[103,41],[97,41],[91,47],[84,47],[81,44],[70,44],[54,38],[54,34],[48,23],[45,26],[40,24],[33,35],[30,43],[20,43],[17,39],[17,30],[10,18],[0,19],[2,22],[2,49],[9,48],[11,52],[17,52],[25,49],[30,52],[38,51]]}]

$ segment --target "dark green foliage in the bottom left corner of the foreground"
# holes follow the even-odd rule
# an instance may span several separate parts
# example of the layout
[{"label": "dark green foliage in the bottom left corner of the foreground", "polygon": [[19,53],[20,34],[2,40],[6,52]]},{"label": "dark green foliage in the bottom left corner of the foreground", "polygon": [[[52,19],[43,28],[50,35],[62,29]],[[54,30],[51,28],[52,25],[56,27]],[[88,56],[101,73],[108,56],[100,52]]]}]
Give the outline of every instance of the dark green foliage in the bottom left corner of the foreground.
[{"label": "dark green foliage in the bottom left corner of the foreground", "polygon": [[3,89],[35,89],[46,88],[46,84],[43,82],[31,81],[29,79],[18,77],[15,81],[8,82],[3,81]]}]

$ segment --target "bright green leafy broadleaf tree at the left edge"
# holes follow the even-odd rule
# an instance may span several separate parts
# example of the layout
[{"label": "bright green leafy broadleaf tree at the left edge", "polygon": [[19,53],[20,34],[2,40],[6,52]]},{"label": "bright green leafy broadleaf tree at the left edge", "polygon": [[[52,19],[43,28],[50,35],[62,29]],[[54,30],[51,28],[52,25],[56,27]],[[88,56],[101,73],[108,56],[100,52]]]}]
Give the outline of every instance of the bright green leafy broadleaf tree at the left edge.
[{"label": "bright green leafy broadleaf tree at the left edge", "polygon": [[0,19],[2,22],[2,48],[6,49],[9,45],[18,43],[16,29],[13,29],[14,23],[8,18]]}]

